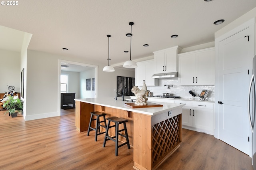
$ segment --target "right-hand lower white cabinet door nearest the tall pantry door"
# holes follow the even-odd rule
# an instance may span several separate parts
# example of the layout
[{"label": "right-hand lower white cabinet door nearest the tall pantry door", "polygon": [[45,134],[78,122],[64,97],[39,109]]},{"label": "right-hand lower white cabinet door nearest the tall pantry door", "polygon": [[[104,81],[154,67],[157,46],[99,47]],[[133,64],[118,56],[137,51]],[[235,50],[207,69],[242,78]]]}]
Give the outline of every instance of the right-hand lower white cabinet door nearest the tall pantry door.
[{"label": "right-hand lower white cabinet door nearest the tall pantry door", "polygon": [[213,109],[194,108],[192,111],[192,123],[194,128],[199,128],[200,131],[212,133],[214,131]]}]

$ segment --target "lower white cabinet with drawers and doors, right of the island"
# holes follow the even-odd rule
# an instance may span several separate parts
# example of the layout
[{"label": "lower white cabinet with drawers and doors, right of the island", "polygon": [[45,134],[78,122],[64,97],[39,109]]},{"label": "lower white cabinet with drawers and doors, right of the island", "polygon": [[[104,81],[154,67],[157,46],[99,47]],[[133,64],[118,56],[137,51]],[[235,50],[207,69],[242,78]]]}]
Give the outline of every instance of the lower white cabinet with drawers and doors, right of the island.
[{"label": "lower white cabinet with drawers and doors, right of the island", "polygon": [[183,128],[214,134],[214,103],[197,101],[178,101],[182,108]]}]

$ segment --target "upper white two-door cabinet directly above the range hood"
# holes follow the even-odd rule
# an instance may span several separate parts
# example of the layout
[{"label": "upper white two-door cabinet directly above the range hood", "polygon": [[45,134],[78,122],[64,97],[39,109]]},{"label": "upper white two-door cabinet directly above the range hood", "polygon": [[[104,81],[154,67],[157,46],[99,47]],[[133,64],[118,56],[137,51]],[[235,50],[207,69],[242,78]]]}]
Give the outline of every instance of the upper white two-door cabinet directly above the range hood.
[{"label": "upper white two-door cabinet directly above the range hood", "polygon": [[179,46],[154,51],[155,72],[154,73],[171,73],[178,71],[178,53],[181,48]]}]

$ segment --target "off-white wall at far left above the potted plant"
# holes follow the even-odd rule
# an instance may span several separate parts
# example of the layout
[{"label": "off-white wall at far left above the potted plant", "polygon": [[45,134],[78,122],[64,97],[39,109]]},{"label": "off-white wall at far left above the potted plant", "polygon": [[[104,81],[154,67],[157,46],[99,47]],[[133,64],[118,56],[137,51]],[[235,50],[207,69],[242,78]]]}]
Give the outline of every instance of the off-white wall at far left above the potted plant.
[{"label": "off-white wall at far left above the potted plant", "polygon": [[8,92],[8,86],[14,86],[20,92],[20,53],[0,49],[0,93]]}]

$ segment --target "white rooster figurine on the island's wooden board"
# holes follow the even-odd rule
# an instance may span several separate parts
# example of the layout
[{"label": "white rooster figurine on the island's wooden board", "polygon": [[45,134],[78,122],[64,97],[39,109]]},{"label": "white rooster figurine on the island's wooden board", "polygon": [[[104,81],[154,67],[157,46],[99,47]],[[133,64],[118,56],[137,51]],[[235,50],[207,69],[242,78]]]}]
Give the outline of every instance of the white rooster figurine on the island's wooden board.
[{"label": "white rooster figurine on the island's wooden board", "polygon": [[145,94],[147,92],[147,86],[145,84],[145,81],[143,82],[142,89],[140,90],[137,86],[132,87],[131,89],[132,93],[136,96],[136,102],[135,105],[147,105],[148,98],[145,97]]}]

